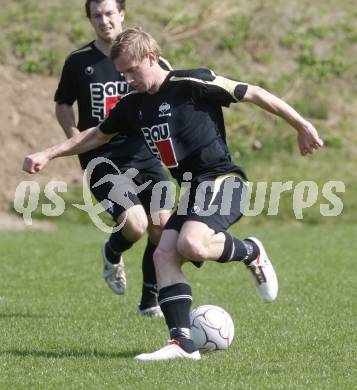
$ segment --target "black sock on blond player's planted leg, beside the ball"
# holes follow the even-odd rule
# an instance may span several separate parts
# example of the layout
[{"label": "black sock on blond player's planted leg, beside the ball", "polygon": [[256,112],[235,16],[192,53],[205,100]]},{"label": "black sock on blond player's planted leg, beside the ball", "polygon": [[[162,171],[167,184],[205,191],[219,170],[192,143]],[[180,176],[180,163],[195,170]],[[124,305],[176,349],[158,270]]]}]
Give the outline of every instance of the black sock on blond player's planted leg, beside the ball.
[{"label": "black sock on blond player's planted leg, beside the ball", "polygon": [[170,338],[179,342],[180,347],[192,353],[196,350],[190,336],[191,287],[177,283],[159,291],[159,303],[165,316]]}]

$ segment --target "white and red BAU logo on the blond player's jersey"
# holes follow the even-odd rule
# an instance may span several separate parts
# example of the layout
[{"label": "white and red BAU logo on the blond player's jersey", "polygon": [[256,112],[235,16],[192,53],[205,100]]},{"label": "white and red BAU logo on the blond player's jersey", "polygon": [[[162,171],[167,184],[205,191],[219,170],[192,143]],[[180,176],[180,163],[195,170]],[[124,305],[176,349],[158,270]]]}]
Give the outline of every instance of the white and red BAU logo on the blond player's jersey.
[{"label": "white and red BAU logo on the blond player's jersey", "polygon": [[142,127],[141,131],[152,154],[158,157],[168,168],[178,166],[168,123]]}]

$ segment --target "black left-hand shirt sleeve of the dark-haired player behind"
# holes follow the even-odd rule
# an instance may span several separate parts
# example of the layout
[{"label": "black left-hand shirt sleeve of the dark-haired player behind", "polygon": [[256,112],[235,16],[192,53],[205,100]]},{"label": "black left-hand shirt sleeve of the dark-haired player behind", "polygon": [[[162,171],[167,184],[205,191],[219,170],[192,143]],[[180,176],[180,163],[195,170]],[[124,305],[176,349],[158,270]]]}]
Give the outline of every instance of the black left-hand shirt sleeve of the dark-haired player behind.
[{"label": "black left-hand shirt sleeve of the dark-haired player behind", "polygon": [[77,100],[77,80],[73,64],[68,58],[63,66],[61,79],[59,81],[54,100],[59,104],[73,105]]}]

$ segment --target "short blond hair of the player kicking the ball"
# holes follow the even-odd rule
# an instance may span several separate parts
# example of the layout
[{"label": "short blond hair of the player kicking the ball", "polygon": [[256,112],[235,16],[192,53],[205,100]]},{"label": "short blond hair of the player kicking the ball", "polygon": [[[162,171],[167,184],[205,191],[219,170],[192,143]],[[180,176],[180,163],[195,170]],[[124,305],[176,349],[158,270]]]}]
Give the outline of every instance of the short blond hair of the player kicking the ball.
[{"label": "short blond hair of the player kicking the ball", "polygon": [[160,52],[160,46],[150,34],[140,27],[131,27],[125,29],[115,38],[110,49],[110,58],[115,60],[125,53],[135,61],[141,61],[149,53],[154,53],[158,58]]}]

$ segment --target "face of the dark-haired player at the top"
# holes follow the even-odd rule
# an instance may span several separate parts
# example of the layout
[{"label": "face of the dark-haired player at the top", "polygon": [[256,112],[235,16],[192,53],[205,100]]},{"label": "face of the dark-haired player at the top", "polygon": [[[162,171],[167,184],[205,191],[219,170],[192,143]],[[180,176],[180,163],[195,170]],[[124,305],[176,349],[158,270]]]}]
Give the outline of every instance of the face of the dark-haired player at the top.
[{"label": "face of the dark-haired player at the top", "polygon": [[90,3],[90,21],[99,39],[113,41],[122,31],[124,10],[118,10],[115,0]]}]

